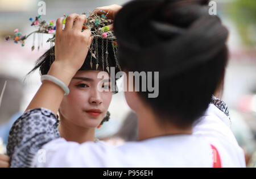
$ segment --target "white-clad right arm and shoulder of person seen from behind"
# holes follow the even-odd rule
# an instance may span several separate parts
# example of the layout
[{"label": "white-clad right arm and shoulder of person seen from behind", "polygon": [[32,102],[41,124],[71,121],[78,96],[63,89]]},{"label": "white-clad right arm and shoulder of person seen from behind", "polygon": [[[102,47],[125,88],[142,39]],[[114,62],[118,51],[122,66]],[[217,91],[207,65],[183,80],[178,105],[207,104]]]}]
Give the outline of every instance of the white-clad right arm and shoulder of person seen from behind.
[{"label": "white-clad right arm and shoulder of person seen from behind", "polygon": [[193,135],[206,139],[217,148],[222,166],[244,167],[243,150],[238,145],[230,126],[229,116],[210,103],[199,123],[193,127]]}]

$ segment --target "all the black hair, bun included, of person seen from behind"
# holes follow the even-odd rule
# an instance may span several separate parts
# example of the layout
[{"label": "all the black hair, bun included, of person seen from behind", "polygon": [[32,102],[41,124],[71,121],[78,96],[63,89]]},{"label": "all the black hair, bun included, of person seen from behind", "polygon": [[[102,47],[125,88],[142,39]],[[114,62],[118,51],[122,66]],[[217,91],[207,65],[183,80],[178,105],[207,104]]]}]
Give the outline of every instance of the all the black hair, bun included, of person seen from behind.
[{"label": "all the black hair, bun included, of person seen from behind", "polygon": [[208,2],[136,0],[115,16],[122,69],[159,72],[158,97],[148,98],[150,91],[138,94],[161,124],[190,127],[223,81],[228,30],[218,16],[209,15]]}]

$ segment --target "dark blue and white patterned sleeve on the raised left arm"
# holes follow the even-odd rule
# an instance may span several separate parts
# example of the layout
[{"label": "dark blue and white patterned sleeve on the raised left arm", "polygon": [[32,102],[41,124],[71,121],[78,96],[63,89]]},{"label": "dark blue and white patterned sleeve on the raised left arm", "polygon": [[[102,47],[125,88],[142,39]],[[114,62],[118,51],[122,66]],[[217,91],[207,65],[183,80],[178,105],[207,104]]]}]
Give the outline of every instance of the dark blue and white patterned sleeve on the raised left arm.
[{"label": "dark blue and white patterned sleeve on the raised left arm", "polygon": [[38,108],[26,111],[11,127],[7,155],[11,167],[30,167],[40,148],[60,138],[57,119],[51,110]]}]

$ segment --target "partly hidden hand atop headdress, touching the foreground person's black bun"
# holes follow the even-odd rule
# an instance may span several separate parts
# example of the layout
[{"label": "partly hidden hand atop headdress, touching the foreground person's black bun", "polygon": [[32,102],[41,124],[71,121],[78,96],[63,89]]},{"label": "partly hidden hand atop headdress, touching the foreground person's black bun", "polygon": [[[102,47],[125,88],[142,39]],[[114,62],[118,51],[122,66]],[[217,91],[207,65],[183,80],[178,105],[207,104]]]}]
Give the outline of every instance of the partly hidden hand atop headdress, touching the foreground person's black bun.
[{"label": "partly hidden hand atop headdress, touching the foreground person's black bun", "polygon": [[[97,7],[97,8],[93,11],[93,13],[94,13],[94,14],[105,14],[105,13],[102,12],[102,11],[106,11],[106,12],[109,11],[109,14],[108,14],[108,16],[107,16],[107,19],[112,19],[112,20],[114,20],[115,14],[117,14],[117,12],[118,12],[119,10],[121,10],[121,9],[122,9],[122,6],[119,6],[119,5],[110,5],[110,6]],[[102,11],[100,11],[100,10],[102,10]],[[110,28],[111,31],[113,31],[113,27],[114,27],[113,24],[109,25],[108,27]]]}]

